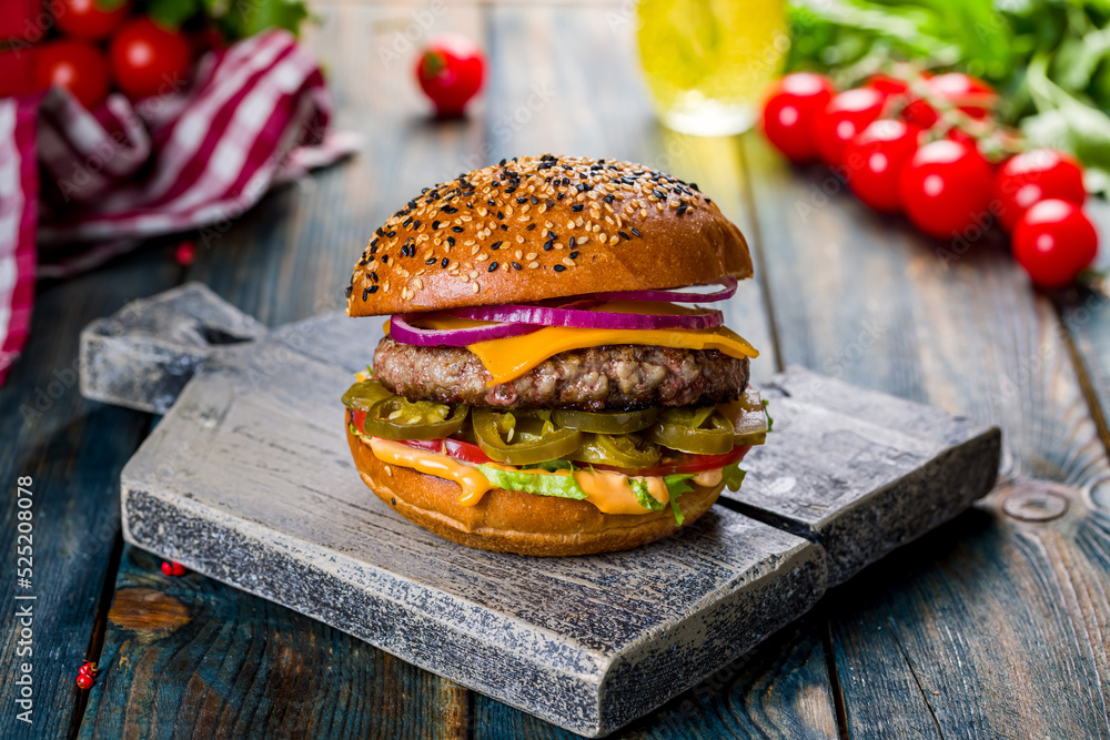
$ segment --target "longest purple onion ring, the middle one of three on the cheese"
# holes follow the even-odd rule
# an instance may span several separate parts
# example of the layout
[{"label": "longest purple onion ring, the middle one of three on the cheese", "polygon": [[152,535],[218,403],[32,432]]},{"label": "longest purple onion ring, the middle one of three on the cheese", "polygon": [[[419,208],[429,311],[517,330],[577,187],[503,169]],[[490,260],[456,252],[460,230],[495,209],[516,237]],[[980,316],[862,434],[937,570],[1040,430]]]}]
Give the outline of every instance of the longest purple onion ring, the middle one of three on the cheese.
[{"label": "longest purple onion ring, the middle one of three on the cheese", "polygon": [[725,323],[719,311],[696,314],[625,314],[612,311],[581,311],[549,306],[502,305],[467,306],[451,312],[460,318],[509,322],[542,326],[569,326],[574,328],[715,328]]}]

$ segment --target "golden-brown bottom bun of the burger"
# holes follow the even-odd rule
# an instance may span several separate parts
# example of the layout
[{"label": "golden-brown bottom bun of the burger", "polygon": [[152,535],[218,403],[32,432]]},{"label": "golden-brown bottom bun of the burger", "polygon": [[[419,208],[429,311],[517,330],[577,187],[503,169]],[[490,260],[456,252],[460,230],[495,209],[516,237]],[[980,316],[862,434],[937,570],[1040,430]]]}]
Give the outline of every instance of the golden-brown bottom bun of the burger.
[{"label": "golden-brown bottom bun of the burger", "polygon": [[[678,529],[669,506],[647,514],[603,514],[587,501],[492,488],[474,506],[458,503],[462,488],[445,478],[380,460],[347,428],[359,473],[379,498],[398,514],[444,539],[497,553],[519,555],[593,555],[655,541]],[[678,506],[686,524],[709,510],[724,484],[690,481]]]}]

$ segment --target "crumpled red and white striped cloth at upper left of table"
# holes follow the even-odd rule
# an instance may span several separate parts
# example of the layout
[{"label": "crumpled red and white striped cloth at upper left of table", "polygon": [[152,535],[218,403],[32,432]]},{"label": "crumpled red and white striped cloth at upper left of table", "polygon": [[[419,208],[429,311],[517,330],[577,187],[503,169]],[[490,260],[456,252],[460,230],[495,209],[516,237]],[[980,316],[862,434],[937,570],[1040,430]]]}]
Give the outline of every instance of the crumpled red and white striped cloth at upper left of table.
[{"label": "crumpled red and white striped cloth at upper left of table", "polygon": [[112,95],[88,111],[59,89],[0,100],[0,384],[27,338],[36,274],[226,224],[274,184],[355,151],[330,118],[319,64],[276,30],[209,53],[188,87],[135,105]]}]

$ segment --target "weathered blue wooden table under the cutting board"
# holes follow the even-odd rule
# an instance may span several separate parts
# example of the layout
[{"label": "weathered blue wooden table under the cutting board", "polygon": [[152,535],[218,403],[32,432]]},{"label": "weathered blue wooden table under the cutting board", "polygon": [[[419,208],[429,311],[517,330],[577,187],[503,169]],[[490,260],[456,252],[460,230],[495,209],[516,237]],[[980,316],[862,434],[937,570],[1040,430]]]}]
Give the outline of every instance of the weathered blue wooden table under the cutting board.
[{"label": "weathered blue wooden table under the cutting board", "polygon": [[[122,544],[118,509],[120,469],[157,419],[75,386],[78,332],[127,301],[199,280],[270,325],[341,307],[367,234],[405,197],[503,156],[558,152],[669,170],[741,226],[758,276],[735,328],[764,352],[756,381],[801,364],[1005,435],[983,503],[624,734],[1110,737],[1110,301],[1032,291],[998,234],[951,259],[756,134],[662,130],[629,9],[319,4],[309,43],[329,70],[336,125],[365,136],[361,155],[199,236],[188,268],[167,241],[40,287],[27,354],[0,389],[3,734],[567,734],[282,607],[163,576]],[[445,30],[491,58],[484,95],[460,122],[427,118],[405,39]],[[33,490],[31,659],[17,656],[20,476]],[[84,659],[102,669],[87,692],[73,682]],[[27,660],[30,726],[16,720]]]}]

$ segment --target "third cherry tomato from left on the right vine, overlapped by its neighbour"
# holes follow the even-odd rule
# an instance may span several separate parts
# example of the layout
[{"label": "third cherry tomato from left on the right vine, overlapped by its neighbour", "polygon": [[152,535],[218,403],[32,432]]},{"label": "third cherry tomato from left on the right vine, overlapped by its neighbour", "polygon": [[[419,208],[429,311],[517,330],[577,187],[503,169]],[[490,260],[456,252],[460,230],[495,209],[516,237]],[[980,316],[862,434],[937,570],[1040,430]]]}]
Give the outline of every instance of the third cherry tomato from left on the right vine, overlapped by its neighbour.
[{"label": "third cherry tomato from left on the right vine, overlapped by its neighbour", "polygon": [[848,187],[856,197],[882,213],[896,213],[898,178],[917,151],[921,129],[881,119],[867,125],[845,151]]}]

